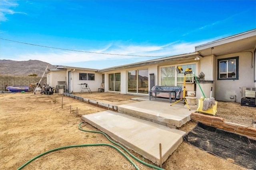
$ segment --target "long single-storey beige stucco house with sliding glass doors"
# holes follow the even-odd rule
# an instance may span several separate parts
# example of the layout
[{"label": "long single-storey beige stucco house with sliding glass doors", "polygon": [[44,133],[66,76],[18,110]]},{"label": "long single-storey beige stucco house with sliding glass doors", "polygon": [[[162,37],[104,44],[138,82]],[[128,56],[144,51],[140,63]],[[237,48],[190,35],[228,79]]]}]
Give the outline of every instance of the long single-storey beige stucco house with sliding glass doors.
[{"label": "long single-storey beige stucco house with sliding glass doors", "polygon": [[[205,74],[204,80],[198,82],[206,98],[212,95],[218,101],[240,103],[244,87],[253,90],[256,87],[255,51],[256,29],[253,29],[199,45],[194,53],[100,70],[57,67],[48,71],[47,82],[54,87],[57,81],[65,81],[68,92],[80,92],[78,84],[82,83],[88,83],[91,90],[97,92],[103,83],[105,92],[146,96],[155,85],[183,87],[184,74],[176,70],[181,66],[183,69],[192,68],[196,76],[200,72]],[[197,98],[202,96],[193,74],[186,74],[186,90],[196,91]]]}]

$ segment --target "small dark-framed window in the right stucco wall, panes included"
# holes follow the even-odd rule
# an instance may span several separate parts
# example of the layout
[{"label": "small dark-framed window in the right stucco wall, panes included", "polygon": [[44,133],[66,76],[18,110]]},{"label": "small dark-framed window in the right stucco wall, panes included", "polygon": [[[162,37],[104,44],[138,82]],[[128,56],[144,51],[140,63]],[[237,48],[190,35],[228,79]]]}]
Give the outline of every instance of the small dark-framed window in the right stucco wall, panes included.
[{"label": "small dark-framed window in the right stucco wall, panes included", "polygon": [[218,80],[238,80],[238,58],[218,59]]}]

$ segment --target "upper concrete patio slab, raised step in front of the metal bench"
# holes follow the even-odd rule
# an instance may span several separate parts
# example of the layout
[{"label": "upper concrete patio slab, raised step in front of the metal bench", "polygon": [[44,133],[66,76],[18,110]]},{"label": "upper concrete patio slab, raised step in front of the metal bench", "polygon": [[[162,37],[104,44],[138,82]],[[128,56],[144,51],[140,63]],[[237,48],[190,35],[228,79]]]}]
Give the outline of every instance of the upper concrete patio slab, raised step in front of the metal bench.
[{"label": "upper concrete patio slab, raised step in front of the metal bench", "polygon": [[168,101],[147,100],[118,106],[118,112],[171,128],[181,127],[191,120],[189,109],[182,102],[170,106]]}]

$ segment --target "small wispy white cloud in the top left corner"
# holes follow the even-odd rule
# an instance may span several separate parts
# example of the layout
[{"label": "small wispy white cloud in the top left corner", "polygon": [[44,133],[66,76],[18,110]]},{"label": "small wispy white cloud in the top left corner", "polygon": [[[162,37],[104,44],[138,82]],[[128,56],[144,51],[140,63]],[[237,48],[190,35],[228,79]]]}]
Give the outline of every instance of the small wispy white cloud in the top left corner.
[{"label": "small wispy white cloud in the top left corner", "polygon": [[1,0],[0,1],[0,21],[7,21],[8,18],[6,17],[6,15],[10,14],[26,14],[24,12],[17,12],[14,11],[11,8],[16,8],[19,4],[16,1],[10,1],[10,0]]}]

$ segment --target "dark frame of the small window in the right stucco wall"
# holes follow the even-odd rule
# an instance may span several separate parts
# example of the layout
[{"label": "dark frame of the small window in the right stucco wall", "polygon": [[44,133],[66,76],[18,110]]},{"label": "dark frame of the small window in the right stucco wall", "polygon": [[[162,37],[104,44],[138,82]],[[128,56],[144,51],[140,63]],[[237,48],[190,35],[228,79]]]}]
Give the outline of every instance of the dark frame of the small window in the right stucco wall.
[{"label": "dark frame of the small window in the right stucco wall", "polygon": [[[235,66],[236,66],[236,77],[231,77],[231,78],[220,78],[220,62],[222,61],[226,61],[228,63],[228,61],[230,60],[235,60]],[[239,72],[238,72],[238,68],[239,68],[239,56],[236,56],[236,57],[229,57],[229,58],[223,58],[223,59],[218,59],[217,60],[217,63],[218,63],[218,75],[217,75],[217,80],[239,80]],[[228,64],[227,64],[228,66]],[[228,72],[228,69],[227,71]]]}]

